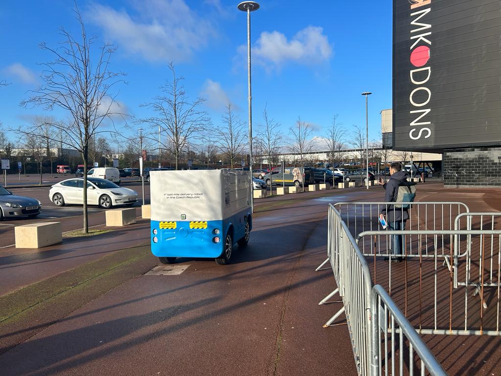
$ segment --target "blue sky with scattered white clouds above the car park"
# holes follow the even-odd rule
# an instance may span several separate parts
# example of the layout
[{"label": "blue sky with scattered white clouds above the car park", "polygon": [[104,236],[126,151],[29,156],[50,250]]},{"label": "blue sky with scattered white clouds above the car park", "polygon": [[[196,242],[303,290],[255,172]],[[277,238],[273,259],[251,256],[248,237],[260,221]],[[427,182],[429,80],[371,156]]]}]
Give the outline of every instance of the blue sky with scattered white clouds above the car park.
[{"label": "blue sky with scattered white clouds above the car park", "polygon": [[[88,34],[97,45],[118,47],[113,69],[127,73],[117,100],[131,115],[147,116],[140,104],[158,94],[169,78],[173,61],[191,97],[207,99],[205,110],[220,122],[224,105],[233,103],[242,121],[247,118],[246,15],[238,1],[122,0],[77,4]],[[270,0],[252,13],[253,124],[269,115],[287,134],[298,116],[322,137],[332,116],[339,114],[348,132],[365,126],[369,97],[369,138],[379,138],[380,110],[391,108],[391,2]],[[30,116],[47,114],[24,109],[19,102],[40,83],[37,63],[52,56],[39,43],[57,46],[58,27],[78,35],[68,0],[2,2],[0,44],[0,121],[4,128],[29,126]],[[55,112],[56,117],[63,116]],[[132,133],[133,130],[125,132]],[[15,138],[15,135],[12,135]]]}]

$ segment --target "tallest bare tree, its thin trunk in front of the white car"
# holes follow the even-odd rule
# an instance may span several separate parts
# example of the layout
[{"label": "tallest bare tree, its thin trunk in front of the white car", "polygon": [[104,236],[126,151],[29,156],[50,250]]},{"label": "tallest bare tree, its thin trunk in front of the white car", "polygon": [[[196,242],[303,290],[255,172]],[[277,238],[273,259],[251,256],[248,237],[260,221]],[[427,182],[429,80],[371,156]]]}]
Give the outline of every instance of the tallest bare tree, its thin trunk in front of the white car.
[{"label": "tallest bare tree, its thin trunk in front of the white car", "polygon": [[[110,44],[104,44],[97,51],[93,49],[96,37],[88,37],[85,25],[75,4],[75,14],[80,26],[81,40],[77,40],[64,28],[60,28],[63,42],[58,48],[42,43],[40,48],[54,56],[54,60],[42,64],[45,70],[42,74],[43,84],[30,91],[31,96],[24,100],[24,107],[40,106],[46,110],[59,108],[70,118],[68,124],[50,123],[55,128],[55,134],[63,132],[67,146],[78,150],[84,164],[84,187],[87,186],[87,165],[89,161],[89,140],[102,130],[105,120],[113,125],[115,116],[124,118],[123,114],[112,110],[116,95],[111,89],[123,83],[122,72],[110,70],[110,59],[116,49]],[[30,135],[39,129],[17,129],[18,132]],[[109,130],[108,130],[109,132]],[[57,140],[56,136],[54,140]],[[87,190],[83,190],[84,232],[89,232],[87,216]]]}]

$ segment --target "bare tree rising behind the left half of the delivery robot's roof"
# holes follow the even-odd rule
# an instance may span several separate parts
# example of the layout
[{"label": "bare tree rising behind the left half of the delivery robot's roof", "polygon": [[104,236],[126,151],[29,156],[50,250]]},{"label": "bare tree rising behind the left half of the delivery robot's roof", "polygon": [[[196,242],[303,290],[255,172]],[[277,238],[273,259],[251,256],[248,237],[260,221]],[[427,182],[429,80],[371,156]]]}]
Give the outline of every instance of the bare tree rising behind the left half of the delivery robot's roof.
[{"label": "bare tree rising behind the left half of the delivery robot's roof", "polygon": [[[205,99],[188,101],[188,94],[182,86],[184,78],[176,76],[173,63],[169,64],[169,69],[172,72],[172,81],[167,81],[160,87],[161,94],[157,95],[153,102],[143,104],[152,109],[156,116],[140,119],[139,122],[152,125],[151,134],[144,134],[145,138],[153,138],[158,142],[158,127],[161,133],[166,133],[167,140],[163,146],[174,155],[177,170],[181,153],[186,151],[188,142],[199,137],[200,132],[208,127],[210,118],[200,109]],[[155,137],[152,134],[155,134]]]}]

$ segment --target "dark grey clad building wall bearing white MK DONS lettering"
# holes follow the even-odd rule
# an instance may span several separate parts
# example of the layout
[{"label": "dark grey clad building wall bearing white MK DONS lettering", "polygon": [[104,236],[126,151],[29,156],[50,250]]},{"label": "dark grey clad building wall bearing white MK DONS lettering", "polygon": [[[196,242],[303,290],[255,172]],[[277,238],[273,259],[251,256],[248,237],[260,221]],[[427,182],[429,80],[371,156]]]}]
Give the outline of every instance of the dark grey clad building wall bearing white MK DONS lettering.
[{"label": "dark grey clad building wall bearing white MK DONS lettering", "polygon": [[393,142],[501,145],[501,2],[394,0]]}]

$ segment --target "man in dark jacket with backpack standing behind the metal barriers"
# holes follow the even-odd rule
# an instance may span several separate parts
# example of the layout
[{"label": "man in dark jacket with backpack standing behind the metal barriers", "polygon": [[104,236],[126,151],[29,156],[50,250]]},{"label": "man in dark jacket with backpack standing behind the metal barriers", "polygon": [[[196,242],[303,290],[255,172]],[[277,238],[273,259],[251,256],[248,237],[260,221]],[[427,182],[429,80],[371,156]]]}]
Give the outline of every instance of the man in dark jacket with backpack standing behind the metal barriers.
[{"label": "man in dark jacket with backpack standing behind the metal barriers", "polygon": [[[392,163],[390,166],[390,180],[385,183],[379,178],[379,185],[383,185],[386,190],[384,195],[385,203],[397,202],[398,187],[402,185],[415,185],[414,182],[407,181],[407,175],[402,171],[400,163]],[[386,216],[386,223],[390,230],[405,230],[405,222],[409,219],[407,209],[395,208],[393,205],[387,205],[379,215],[381,218]],[[402,235],[391,236],[391,253],[394,255],[403,254]],[[402,257],[397,257],[397,261],[402,261]]]}]

